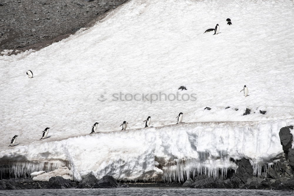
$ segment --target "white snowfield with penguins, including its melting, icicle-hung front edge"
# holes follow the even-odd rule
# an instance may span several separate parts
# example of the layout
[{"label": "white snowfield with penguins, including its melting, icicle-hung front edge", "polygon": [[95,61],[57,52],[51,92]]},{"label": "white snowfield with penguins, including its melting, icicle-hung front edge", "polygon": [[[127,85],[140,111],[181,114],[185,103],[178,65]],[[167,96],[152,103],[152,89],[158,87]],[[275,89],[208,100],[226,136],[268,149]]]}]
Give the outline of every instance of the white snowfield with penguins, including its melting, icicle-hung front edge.
[{"label": "white snowfield with penguins, including its melting, icicle-hung front edge", "polygon": [[[0,56],[2,165],[23,161],[32,173],[65,161],[76,180],[182,180],[225,175],[230,158],[245,157],[260,173],[283,153],[280,128],[294,123],[293,14],[288,0],[132,0],[40,51]],[[218,35],[204,33],[216,24]],[[120,92],[132,96],[114,101]],[[134,100],[177,92],[196,100]],[[180,112],[185,123],[174,125]],[[101,133],[87,135],[95,122]]]}]

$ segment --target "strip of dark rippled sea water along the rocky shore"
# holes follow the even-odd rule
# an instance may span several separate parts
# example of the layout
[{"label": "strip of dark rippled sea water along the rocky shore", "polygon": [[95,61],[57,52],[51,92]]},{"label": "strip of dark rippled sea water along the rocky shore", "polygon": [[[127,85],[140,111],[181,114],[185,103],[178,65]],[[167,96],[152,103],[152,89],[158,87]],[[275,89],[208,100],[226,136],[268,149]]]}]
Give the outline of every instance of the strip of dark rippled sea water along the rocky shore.
[{"label": "strip of dark rippled sea water along the rocky shore", "polygon": [[0,195],[294,195],[294,191],[192,188],[39,189],[2,190]]}]

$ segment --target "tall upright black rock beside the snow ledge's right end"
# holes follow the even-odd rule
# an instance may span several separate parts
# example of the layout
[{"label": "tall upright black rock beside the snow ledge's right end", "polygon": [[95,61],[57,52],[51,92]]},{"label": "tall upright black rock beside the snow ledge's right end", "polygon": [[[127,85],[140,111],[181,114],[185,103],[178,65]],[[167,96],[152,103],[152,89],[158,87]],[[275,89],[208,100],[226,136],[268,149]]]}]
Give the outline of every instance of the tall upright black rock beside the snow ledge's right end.
[{"label": "tall upright black rock beside the snow ledge's right end", "polygon": [[280,129],[279,136],[281,145],[285,153],[285,157],[288,158],[289,148],[292,148],[293,136],[290,133],[290,129],[293,129],[293,126],[287,126]]}]

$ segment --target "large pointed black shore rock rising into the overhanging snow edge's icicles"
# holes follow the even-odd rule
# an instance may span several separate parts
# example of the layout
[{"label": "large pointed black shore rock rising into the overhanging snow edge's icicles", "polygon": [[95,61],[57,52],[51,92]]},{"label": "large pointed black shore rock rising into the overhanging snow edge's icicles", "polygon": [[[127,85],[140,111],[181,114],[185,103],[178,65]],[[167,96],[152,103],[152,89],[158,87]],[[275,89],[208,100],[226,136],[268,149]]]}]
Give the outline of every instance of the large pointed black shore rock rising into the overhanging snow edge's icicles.
[{"label": "large pointed black shore rock rising into the overhanging snow edge's icicles", "polygon": [[234,187],[238,187],[241,183],[246,184],[249,177],[253,176],[253,168],[249,160],[242,158],[238,162],[238,168],[231,177],[232,184]]}]

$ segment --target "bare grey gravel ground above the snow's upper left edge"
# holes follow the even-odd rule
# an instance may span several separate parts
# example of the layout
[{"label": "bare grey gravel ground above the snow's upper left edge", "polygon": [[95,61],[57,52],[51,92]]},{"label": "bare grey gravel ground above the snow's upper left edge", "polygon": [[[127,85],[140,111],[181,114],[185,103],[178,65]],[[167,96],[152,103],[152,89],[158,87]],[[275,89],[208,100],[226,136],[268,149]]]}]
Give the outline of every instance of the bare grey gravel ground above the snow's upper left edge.
[{"label": "bare grey gravel ground above the snow's upper left edge", "polygon": [[0,51],[38,49],[128,0],[0,0]]}]

